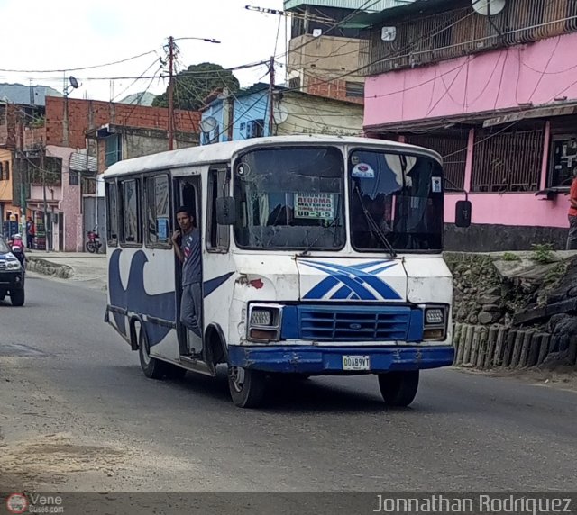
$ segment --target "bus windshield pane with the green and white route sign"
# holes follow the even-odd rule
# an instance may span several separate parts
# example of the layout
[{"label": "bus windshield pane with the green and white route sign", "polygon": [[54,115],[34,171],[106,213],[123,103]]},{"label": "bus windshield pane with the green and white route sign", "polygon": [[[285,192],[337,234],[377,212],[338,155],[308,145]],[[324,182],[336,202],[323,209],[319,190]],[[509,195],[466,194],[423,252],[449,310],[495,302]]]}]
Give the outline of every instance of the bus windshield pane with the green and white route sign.
[{"label": "bus windshield pane with the green and white route sign", "polygon": [[234,163],[240,248],[334,250],[344,246],[344,159],[334,148],[247,152]]}]

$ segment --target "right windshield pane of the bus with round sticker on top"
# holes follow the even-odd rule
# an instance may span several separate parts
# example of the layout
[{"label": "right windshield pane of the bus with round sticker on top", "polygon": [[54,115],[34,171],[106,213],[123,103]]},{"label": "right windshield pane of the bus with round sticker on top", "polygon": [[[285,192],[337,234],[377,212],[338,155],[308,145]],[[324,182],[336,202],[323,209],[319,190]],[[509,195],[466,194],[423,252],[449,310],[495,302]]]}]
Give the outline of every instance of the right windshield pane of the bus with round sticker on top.
[{"label": "right windshield pane of the bus with round sticker on top", "polygon": [[359,252],[440,251],[443,172],[432,158],[353,150],[351,241]]}]

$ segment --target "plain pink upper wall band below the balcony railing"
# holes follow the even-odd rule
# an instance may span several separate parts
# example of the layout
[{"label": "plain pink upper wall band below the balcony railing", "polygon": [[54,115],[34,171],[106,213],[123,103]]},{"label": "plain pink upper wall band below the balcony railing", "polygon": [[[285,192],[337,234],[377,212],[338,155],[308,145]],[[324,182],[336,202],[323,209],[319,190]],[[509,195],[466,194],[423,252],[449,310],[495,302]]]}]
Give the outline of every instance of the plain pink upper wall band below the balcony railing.
[{"label": "plain pink upper wall band below the balcony railing", "polygon": [[368,77],[365,127],[577,99],[577,33]]}]

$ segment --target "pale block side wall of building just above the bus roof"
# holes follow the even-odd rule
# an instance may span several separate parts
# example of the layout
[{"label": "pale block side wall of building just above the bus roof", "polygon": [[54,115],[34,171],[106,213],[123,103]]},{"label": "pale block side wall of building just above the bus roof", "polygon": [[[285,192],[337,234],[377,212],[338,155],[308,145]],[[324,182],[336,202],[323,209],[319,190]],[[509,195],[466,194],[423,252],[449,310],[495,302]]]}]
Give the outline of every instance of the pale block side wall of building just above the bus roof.
[{"label": "pale block side wall of building just above the bus roof", "polygon": [[362,105],[296,92],[283,94],[280,102],[289,117],[279,124],[279,136],[288,134],[362,135]]}]

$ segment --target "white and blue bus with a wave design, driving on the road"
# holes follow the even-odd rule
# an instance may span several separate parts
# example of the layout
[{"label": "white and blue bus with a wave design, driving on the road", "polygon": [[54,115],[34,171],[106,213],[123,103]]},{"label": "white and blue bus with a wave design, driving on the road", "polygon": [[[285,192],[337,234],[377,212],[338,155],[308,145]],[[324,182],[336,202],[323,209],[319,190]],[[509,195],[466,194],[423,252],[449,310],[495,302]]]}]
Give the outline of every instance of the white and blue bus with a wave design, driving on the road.
[{"label": "white and blue bus with a wave design, driving on the road", "polygon": [[[431,150],[330,136],[218,143],[118,162],[105,195],[105,320],[148,377],[225,364],[234,403],[255,407],[270,375],[374,374],[387,404],[407,406],[420,370],[453,363]],[[181,205],[201,232],[200,354],[179,321]]]}]

